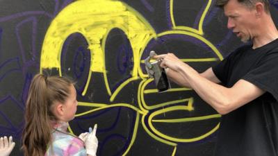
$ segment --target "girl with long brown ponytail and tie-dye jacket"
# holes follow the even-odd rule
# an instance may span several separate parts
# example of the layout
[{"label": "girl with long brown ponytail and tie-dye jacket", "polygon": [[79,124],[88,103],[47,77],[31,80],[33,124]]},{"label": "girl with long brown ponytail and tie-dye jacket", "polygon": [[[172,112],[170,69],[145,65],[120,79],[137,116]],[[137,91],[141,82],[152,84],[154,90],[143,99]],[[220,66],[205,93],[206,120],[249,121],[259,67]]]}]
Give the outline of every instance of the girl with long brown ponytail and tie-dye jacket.
[{"label": "girl with long brown ponytail and tie-dye jacket", "polygon": [[76,106],[76,90],[70,80],[35,75],[26,102],[26,123],[22,134],[24,155],[95,156],[98,144],[96,126],[93,132],[79,137],[67,132],[67,122],[74,119]]}]

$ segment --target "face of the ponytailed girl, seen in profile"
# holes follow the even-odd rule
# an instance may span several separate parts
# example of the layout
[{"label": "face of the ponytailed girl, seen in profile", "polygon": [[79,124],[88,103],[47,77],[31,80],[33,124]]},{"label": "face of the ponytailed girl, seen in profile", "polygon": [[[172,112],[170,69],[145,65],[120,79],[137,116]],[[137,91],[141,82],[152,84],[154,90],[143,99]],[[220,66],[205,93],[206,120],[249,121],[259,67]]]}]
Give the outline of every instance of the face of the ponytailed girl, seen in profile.
[{"label": "face of the ponytailed girl, seen in profile", "polygon": [[76,101],[76,90],[74,85],[70,87],[70,96],[67,98],[65,103],[63,103],[63,119],[67,121],[71,121],[74,119],[74,115],[77,109],[77,101]]}]

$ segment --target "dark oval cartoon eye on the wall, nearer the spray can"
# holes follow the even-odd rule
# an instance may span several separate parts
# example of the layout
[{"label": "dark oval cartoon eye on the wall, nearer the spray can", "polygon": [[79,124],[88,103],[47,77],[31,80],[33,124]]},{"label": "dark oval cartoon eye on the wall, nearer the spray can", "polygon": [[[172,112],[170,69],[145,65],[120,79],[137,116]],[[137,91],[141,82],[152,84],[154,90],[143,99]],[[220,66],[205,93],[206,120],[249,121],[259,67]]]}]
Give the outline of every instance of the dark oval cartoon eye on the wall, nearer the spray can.
[{"label": "dark oval cartoon eye on the wall, nearer the spray can", "polygon": [[113,28],[105,42],[105,68],[111,92],[128,78],[133,70],[133,50],[124,31]]}]

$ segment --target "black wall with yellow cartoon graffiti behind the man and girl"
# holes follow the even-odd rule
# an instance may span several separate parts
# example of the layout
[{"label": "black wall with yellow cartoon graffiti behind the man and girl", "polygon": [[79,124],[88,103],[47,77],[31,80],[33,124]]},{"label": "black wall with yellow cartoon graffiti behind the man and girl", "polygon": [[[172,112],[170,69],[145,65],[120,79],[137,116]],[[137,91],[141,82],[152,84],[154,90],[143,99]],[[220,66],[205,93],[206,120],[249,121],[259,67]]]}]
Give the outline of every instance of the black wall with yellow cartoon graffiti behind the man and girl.
[{"label": "black wall with yellow cartoon graffiti behind the man and girl", "polygon": [[[277,22],[278,1],[272,0]],[[213,155],[220,114],[192,89],[158,93],[149,51],[202,72],[242,43],[214,0],[0,0],[0,135],[22,155],[35,73],[71,77],[79,101],[69,131],[98,124],[99,156]]]}]

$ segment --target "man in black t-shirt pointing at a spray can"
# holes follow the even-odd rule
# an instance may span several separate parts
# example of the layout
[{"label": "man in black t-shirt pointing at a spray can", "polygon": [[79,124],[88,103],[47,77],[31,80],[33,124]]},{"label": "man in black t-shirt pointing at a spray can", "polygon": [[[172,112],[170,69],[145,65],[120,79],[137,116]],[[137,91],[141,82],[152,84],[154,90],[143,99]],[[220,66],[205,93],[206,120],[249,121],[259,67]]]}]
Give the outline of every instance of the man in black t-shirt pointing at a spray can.
[{"label": "man in black t-shirt pointing at a spray can", "polygon": [[[191,87],[222,114],[216,156],[278,155],[278,31],[267,0],[216,0],[243,42],[220,64],[197,73],[172,53],[157,55],[175,83]],[[219,84],[222,85],[219,85]]]}]

